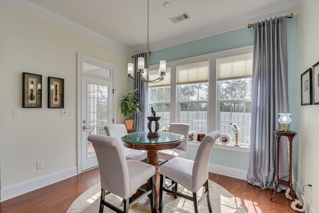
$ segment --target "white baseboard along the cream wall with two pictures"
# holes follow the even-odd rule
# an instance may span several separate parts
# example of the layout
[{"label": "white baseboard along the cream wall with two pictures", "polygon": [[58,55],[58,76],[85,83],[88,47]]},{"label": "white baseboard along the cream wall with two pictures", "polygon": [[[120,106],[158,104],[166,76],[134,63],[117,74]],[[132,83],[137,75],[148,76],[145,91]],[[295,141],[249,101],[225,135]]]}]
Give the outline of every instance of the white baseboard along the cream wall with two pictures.
[{"label": "white baseboard along the cream wall with two pictures", "polygon": [[77,175],[77,167],[71,167],[59,172],[51,173],[39,178],[25,181],[0,190],[0,202],[14,198],[16,196],[40,189],[56,182],[71,178]]}]

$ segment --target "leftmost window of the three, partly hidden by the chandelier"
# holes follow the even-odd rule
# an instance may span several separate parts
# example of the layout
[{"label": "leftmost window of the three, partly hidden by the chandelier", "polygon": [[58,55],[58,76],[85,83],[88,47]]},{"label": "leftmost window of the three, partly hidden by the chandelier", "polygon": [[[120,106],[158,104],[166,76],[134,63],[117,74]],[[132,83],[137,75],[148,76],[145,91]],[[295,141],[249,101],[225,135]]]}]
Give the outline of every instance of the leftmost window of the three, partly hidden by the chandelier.
[{"label": "leftmost window of the three, partly hidden by the chandelier", "polygon": [[[158,77],[158,69],[150,69],[150,79]],[[160,129],[170,123],[170,67],[166,67],[164,80],[149,84],[149,112],[151,107],[160,116]]]}]

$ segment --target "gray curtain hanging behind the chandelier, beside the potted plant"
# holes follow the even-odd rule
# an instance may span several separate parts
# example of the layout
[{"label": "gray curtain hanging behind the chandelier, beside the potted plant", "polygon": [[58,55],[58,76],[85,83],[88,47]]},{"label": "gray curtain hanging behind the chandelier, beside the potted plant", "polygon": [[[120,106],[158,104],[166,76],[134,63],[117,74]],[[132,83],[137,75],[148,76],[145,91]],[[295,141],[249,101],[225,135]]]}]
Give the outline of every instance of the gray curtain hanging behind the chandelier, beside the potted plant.
[{"label": "gray curtain hanging behind the chandelier, beside the potted plant", "polygon": [[[145,62],[147,64],[147,52],[141,52],[139,54],[134,55],[134,77],[136,79],[142,80],[142,76],[138,73],[138,57],[144,57]],[[141,97],[141,106],[143,107],[140,115],[135,114],[134,117],[134,131],[135,132],[143,132],[146,127],[146,117],[147,117],[147,84],[139,81],[134,82],[134,89],[139,89],[140,97]]]}]

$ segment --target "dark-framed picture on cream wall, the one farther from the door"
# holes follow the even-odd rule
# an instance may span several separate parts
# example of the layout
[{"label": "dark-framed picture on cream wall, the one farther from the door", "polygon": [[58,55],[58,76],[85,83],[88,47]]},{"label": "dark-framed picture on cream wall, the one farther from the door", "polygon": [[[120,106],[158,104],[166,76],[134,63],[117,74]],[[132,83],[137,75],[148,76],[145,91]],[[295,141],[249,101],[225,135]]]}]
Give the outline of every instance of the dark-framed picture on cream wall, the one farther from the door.
[{"label": "dark-framed picture on cream wall, the one farther from the door", "polygon": [[22,73],[22,107],[42,107],[42,75]]}]

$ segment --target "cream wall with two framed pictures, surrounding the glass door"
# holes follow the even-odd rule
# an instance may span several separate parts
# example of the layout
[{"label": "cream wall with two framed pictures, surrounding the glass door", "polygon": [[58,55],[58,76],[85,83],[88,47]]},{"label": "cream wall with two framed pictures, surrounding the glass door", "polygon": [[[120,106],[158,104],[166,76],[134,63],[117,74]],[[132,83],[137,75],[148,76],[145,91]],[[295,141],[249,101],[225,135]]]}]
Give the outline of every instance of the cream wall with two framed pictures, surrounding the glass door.
[{"label": "cream wall with two framed pictures, surrounding the glass door", "polygon": [[[1,190],[77,166],[77,52],[116,64],[119,106],[132,89],[127,53],[0,3]],[[22,72],[42,75],[42,108],[22,108]],[[48,76],[64,78],[64,108],[73,116],[47,108]],[[13,118],[12,109],[20,117]],[[119,107],[117,120],[124,122]]]}]

